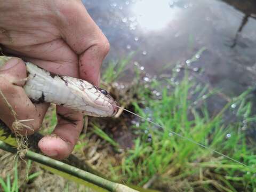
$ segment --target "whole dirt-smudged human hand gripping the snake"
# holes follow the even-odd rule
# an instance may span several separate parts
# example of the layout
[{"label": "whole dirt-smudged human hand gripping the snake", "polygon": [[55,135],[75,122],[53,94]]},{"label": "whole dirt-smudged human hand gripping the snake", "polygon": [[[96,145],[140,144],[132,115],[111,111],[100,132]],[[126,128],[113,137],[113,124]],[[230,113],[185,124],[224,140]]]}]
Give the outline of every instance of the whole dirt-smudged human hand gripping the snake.
[{"label": "whole dirt-smudged human hand gripping the snake", "polygon": [[[9,0],[0,3],[0,44],[9,53],[33,62],[52,73],[79,77],[99,84],[100,66],[109,51],[107,38],[78,0]],[[38,131],[49,103],[34,104],[22,89],[26,78],[22,60],[11,59],[0,68],[0,89],[18,119]],[[13,84],[15,82],[15,85]],[[10,128],[14,121],[0,97],[0,119]],[[58,124],[53,135],[38,143],[41,151],[55,159],[68,157],[83,126],[83,116],[57,106]],[[61,117],[73,119],[67,122]],[[11,128],[12,129],[12,128]],[[21,134],[33,134],[23,130]]]}]

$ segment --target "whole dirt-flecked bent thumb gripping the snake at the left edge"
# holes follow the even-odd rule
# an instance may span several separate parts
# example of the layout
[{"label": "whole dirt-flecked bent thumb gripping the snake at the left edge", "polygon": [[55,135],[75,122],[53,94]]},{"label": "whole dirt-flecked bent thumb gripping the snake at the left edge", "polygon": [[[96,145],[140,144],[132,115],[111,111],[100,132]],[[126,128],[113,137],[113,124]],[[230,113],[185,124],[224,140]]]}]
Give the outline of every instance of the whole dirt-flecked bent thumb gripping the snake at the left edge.
[{"label": "whole dirt-flecked bent thumb gripping the snake at the left edge", "polygon": [[[34,105],[27,97],[21,86],[25,84],[26,66],[20,59],[11,59],[0,68],[0,90],[4,94],[7,102],[12,106],[17,114],[18,120],[33,119],[33,121],[22,122],[31,129],[37,131],[43,121],[47,110],[47,104]],[[14,84],[13,84],[14,83]],[[14,114],[11,114],[6,100],[0,97],[0,118],[13,131],[12,123]],[[23,129],[18,131],[21,134],[32,134],[34,131]]]}]

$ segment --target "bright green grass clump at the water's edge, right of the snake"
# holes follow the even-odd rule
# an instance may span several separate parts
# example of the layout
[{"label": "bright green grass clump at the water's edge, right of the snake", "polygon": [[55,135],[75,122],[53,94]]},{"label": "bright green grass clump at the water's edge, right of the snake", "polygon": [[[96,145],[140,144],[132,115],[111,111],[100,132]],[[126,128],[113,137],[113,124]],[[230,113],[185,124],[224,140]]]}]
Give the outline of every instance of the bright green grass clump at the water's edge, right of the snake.
[{"label": "bright green grass clump at the water's edge, right of the snake", "polygon": [[[162,128],[138,119],[140,125],[134,130],[140,131],[140,134],[134,141],[134,148],[127,151],[119,167],[122,179],[139,186],[159,189],[168,186],[168,190],[172,188],[174,191],[252,191],[256,185],[255,148],[249,148],[250,143],[243,131],[245,122],[255,121],[255,117],[250,117],[252,103],[246,101],[250,91],[228,103],[217,115],[211,116],[204,102],[205,96],[191,99],[195,95],[202,95],[205,89],[195,89],[195,82],[188,81],[187,75],[179,85],[171,81],[155,81],[147,89],[157,87],[162,87],[161,98],[156,99],[148,94],[148,90],[142,89],[139,98],[145,101],[143,106],[138,102],[133,102],[133,106],[136,113]],[[195,105],[199,101],[201,106]],[[233,122],[227,123],[223,117],[234,102],[238,106],[236,116]],[[146,108],[150,109],[150,113],[145,112]],[[247,126],[247,129],[251,129],[250,125]],[[183,137],[202,143],[247,166],[230,161]]]}]

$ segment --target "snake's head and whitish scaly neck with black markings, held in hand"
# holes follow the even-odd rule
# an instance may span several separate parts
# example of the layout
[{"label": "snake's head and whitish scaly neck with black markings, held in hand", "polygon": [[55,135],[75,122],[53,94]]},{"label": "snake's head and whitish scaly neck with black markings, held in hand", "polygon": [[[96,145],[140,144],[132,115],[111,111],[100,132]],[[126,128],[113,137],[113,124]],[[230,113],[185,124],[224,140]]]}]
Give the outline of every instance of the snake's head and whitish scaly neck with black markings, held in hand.
[{"label": "snake's head and whitish scaly neck with black markings, held in hand", "polygon": [[[0,67],[13,57],[0,56]],[[118,102],[104,89],[84,79],[53,74],[34,63],[24,61],[27,69],[23,85],[34,103],[51,102],[94,117],[115,116]]]}]

